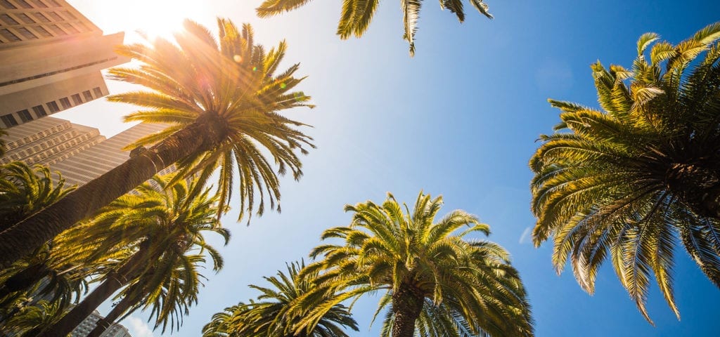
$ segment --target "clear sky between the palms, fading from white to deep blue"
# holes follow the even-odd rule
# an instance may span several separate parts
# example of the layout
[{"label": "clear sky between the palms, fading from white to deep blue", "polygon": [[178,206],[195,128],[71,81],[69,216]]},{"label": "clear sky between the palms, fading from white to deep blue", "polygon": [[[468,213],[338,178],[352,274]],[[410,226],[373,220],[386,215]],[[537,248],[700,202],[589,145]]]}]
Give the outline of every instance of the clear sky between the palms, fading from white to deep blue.
[{"label": "clear sky between the palms, fading from white to deep blue", "polygon": [[[150,27],[137,19],[148,10],[141,1],[68,2],[106,33]],[[682,320],[653,287],[652,327],[609,264],[590,296],[572,272],[555,274],[551,246],[535,249],[523,233],[534,225],[527,162],[539,134],[551,132],[559,120],[546,99],[597,106],[590,63],[629,67],[640,34],[657,32],[679,42],[720,19],[720,2],[487,0],[495,20],[467,4],[461,25],[435,1],[425,1],[413,58],[402,40],[398,1],[382,1],[366,35],[347,41],[334,34],[340,1],[313,1],[271,19],[254,16],[260,2],[177,1],[172,14],[213,28],[217,15],[251,22],[256,41],[266,46],[287,39],[285,64],[301,63],[299,73],[310,76],[301,89],[318,104],[288,115],[314,126],[306,131],[318,149],[303,158],[299,183],[283,181],[281,214],[254,218],[249,227],[235,223],[236,211],[226,216],[233,239],[222,249],[225,269],[205,273],[209,280],[200,302],[176,336],[198,336],[213,313],[255,297],[248,284],[260,285],[262,276],[305,257],[323,229],[348,223],[344,204],[381,201],[387,191],[412,203],[420,190],[444,195],[445,212],[462,208],[490,224],[490,240],[513,254],[528,288],[537,336],[717,335],[720,291],[682,247],[676,249],[675,270]],[[184,4],[192,8],[184,11]],[[146,17],[154,16],[163,18],[158,11]],[[109,88],[127,87],[110,82]],[[127,127],[119,123],[129,111],[98,101],[61,117],[112,135]],[[361,326],[354,336],[377,336],[379,325],[368,328],[375,302],[363,300],[354,308]]]}]

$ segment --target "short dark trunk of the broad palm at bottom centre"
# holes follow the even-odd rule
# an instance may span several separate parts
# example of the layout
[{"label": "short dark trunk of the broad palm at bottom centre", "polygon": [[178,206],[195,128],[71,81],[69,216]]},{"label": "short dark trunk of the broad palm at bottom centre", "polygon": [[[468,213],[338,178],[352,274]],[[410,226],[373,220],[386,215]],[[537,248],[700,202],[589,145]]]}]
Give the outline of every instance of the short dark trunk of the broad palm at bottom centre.
[{"label": "short dark trunk of the broad palm at bottom centre", "polygon": [[423,310],[423,296],[413,291],[408,285],[400,285],[397,292],[392,293],[392,312],[395,322],[392,324],[392,337],[413,337],[415,320]]}]

